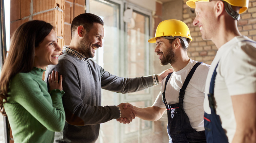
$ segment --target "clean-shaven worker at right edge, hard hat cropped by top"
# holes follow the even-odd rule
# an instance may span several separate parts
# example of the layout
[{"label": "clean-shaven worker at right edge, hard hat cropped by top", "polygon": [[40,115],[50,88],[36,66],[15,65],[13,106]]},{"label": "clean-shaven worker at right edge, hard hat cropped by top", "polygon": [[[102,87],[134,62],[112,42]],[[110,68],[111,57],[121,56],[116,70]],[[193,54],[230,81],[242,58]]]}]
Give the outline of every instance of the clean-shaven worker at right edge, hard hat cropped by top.
[{"label": "clean-shaven worker at right edge, hard hat cropped by top", "polygon": [[256,142],[256,42],[237,26],[249,0],[188,0],[193,21],[218,52],[207,75],[204,127],[209,143]]}]

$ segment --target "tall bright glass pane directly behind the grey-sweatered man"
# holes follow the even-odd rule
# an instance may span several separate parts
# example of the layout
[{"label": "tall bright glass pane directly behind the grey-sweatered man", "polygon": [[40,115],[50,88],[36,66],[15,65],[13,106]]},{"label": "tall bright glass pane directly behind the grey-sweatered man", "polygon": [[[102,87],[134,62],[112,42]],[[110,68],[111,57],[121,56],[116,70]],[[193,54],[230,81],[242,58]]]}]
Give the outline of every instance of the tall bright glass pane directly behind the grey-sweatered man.
[{"label": "tall bright glass pane directly behind the grey-sweatered man", "polygon": [[[93,58],[102,68],[111,74],[118,72],[118,45],[119,45],[119,8],[115,3],[102,0],[90,0],[89,12],[98,15],[104,21],[103,46],[96,50]],[[102,106],[117,105],[117,93],[102,89]],[[100,133],[96,143],[117,143],[117,121],[111,120],[100,125]],[[120,124],[120,123],[119,123]]]}]

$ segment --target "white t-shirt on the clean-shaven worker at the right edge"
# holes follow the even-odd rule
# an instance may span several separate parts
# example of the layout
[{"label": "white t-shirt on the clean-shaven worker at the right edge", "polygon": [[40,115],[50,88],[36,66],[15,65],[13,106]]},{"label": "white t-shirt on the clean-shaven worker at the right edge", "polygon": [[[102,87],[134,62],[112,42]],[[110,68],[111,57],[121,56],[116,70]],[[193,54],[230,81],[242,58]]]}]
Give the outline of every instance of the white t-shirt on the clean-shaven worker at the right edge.
[{"label": "white t-shirt on the clean-shaven worker at the right edge", "polygon": [[256,92],[256,43],[253,42],[246,36],[238,36],[221,46],[206,79],[203,107],[211,114],[207,94],[212,73],[219,62],[214,88],[216,114],[220,115],[229,142],[236,131],[231,96]]}]

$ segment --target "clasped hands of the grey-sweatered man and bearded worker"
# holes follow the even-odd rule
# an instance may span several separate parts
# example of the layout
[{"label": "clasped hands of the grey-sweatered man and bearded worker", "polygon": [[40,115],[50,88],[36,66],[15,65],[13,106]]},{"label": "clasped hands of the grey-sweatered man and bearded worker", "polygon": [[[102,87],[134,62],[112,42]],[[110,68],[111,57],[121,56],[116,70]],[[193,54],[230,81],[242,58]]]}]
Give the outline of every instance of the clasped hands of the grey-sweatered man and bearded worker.
[{"label": "clasped hands of the grey-sweatered man and bearded worker", "polygon": [[129,124],[135,117],[137,117],[137,111],[135,106],[130,103],[120,103],[118,107],[121,110],[121,117],[117,119],[118,122]]}]

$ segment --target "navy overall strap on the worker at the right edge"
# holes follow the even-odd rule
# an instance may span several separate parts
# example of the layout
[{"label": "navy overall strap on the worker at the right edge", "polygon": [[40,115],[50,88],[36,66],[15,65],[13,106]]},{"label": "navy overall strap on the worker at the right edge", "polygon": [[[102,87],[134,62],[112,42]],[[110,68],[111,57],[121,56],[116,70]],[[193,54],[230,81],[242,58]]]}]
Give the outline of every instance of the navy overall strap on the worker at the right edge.
[{"label": "navy overall strap on the worker at the right edge", "polygon": [[210,108],[213,108],[214,110],[215,110],[215,106],[214,106],[214,102],[213,102],[213,99],[214,99],[213,93],[214,93],[214,86],[215,86],[215,78],[216,78],[216,75],[217,75],[216,69],[218,67],[218,64],[219,64],[219,62],[217,63],[217,65],[216,65],[216,67],[213,71],[211,82],[210,82],[209,94],[207,94]]}]

